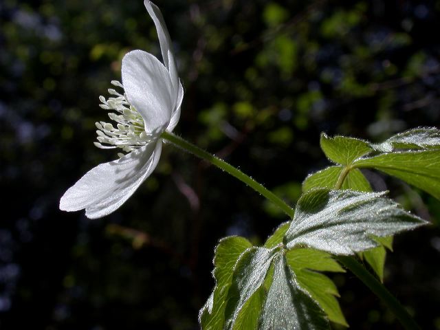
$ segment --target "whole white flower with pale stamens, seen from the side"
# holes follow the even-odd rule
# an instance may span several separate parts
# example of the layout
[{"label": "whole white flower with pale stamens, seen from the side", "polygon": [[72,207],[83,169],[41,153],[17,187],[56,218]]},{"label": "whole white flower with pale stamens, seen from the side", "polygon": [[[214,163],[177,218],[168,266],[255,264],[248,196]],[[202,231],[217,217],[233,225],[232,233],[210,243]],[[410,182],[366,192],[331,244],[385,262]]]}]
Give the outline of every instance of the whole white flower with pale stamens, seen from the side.
[{"label": "whole white flower with pale stamens, seen from the side", "polygon": [[115,97],[100,97],[100,107],[115,111],[109,117],[117,125],[97,122],[95,145],[121,148],[127,154],[89,170],[61,197],[61,210],[85,209],[86,216],[95,219],[119,208],[155,169],[162,151],[161,133],[173,131],[179,121],[184,90],[170,36],[159,8],[148,0],[144,5],[155,23],[164,64],[142,50],[124,56],[122,84],[111,82],[124,93],[109,89]]}]

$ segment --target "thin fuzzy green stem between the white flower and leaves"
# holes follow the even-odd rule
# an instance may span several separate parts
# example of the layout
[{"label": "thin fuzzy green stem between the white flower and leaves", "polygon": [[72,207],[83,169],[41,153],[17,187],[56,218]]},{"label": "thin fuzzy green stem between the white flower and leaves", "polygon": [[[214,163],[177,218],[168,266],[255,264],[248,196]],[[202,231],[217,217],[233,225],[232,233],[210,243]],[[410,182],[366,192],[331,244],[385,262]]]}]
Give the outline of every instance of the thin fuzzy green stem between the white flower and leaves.
[{"label": "thin fuzzy green stem between the white flower and leaves", "polygon": [[240,181],[250,186],[250,188],[254,189],[256,192],[259,192],[265,198],[272,201],[272,203],[278,206],[278,208],[281,208],[281,210],[283,210],[283,212],[285,212],[290,218],[294,217],[294,209],[288,206],[287,203],[283,201],[283,199],[276,196],[272,191],[265,188],[262,184],[259,184],[259,182],[252,179],[252,177],[245,175],[245,173],[241,172],[241,170],[239,170],[238,168],[235,168],[234,166],[228,164],[223,159],[220,159],[218,157],[215,157],[214,155],[211,155],[210,153],[207,153],[198,146],[195,146],[194,144],[182,139],[181,137],[173,133],[169,133],[165,131],[164,133],[162,133],[161,137],[162,139],[171,142],[175,146],[178,146],[179,148],[183,149],[184,151],[187,151],[188,153],[192,153],[192,155],[204,159],[207,162],[210,162],[211,164],[217,166],[218,168],[221,168],[225,172],[228,172],[233,177],[236,177]]}]

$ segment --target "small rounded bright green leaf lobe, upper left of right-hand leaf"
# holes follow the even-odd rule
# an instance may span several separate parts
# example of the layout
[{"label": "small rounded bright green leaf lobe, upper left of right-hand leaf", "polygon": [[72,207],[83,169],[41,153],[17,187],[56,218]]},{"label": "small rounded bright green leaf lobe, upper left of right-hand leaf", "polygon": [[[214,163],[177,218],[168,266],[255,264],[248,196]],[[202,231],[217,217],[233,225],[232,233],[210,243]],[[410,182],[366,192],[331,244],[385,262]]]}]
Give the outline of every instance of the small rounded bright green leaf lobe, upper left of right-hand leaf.
[{"label": "small rounded bright green leaf lobe, upper left of right-hand leaf", "polygon": [[354,137],[329,137],[321,134],[320,144],[325,155],[336,164],[349,165],[355,159],[373,151],[369,142]]}]

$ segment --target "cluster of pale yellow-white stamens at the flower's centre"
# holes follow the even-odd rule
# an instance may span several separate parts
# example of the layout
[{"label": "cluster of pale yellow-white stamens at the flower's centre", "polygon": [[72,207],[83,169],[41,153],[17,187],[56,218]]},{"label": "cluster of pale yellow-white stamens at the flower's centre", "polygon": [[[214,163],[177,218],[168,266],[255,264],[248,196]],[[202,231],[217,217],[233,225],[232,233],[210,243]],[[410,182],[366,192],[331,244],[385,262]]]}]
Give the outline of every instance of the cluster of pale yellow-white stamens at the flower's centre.
[{"label": "cluster of pale yellow-white stamens at the flower's centre", "polygon": [[[117,80],[112,80],[111,85],[124,89]],[[152,135],[146,133],[142,116],[126,99],[126,95],[118,93],[115,89],[109,89],[109,94],[114,97],[106,100],[104,96],[100,96],[99,100],[102,104],[99,106],[105,110],[115,111],[109,112],[109,118],[117,125],[114,127],[108,122],[96,122],[98,142],[94,142],[95,146],[102,149],[122,148],[122,151],[129,153],[148,144]],[[118,155],[122,157],[124,154],[118,153]]]}]

